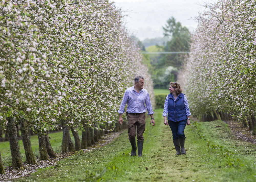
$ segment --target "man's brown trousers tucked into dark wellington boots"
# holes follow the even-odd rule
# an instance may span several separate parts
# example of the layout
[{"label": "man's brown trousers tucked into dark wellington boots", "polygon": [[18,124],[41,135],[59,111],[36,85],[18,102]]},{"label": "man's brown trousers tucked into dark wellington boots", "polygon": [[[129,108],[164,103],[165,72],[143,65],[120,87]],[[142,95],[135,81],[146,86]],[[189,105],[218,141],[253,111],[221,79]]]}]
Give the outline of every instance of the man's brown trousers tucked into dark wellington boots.
[{"label": "man's brown trousers tucked into dark wellington boots", "polygon": [[137,140],[144,141],[143,133],[146,127],[146,116],[145,113],[139,115],[129,114],[127,115],[128,120],[128,136],[129,140],[135,139],[136,128],[137,128]]}]

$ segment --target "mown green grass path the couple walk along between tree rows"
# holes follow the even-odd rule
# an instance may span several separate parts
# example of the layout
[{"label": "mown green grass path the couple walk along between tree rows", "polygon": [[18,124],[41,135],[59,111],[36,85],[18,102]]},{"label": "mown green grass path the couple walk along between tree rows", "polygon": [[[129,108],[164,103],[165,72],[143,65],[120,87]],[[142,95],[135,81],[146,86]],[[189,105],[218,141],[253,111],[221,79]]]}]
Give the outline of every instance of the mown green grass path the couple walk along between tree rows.
[{"label": "mown green grass path the couple walk along between tree rows", "polygon": [[146,120],[143,157],[129,155],[131,146],[124,131],[106,147],[77,152],[18,181],[256,181],[255,146],[233,139],[223,122],[186,126],[187,154],[175,156],[162,110],[154,117],[156,126],[149,125],[150,118]]}]

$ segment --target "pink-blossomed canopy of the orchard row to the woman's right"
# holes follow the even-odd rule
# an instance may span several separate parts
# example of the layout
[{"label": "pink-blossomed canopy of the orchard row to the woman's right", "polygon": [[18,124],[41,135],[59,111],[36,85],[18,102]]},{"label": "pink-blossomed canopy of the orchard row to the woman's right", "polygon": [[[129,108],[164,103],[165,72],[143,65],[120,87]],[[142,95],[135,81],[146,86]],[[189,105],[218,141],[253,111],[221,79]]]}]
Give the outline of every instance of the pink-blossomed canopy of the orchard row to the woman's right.
[{"label": "pink-blossomed canopy of the orchard row to the woman's right", "polygon": [[180,79],[194,115],[228,113],[256,132],[255,11],[253,0],[206,4]]}]

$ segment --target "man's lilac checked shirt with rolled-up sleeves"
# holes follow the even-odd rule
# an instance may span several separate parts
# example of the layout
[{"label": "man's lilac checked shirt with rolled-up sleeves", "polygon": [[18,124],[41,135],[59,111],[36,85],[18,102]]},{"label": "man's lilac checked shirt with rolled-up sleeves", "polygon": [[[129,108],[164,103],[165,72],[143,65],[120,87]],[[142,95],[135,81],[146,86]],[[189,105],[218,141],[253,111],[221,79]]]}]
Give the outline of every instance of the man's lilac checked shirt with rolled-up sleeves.
[{"label": "man's lilac checked shirt with rolled-up sleeves", "polygon": [[[147,112],[147,115],[154,114],[152,105],[150,102],[149,94],[146,89],[141,89],[139,93],[136,92],[134,86],[125,90],[120,109],[118,110],[119,114],[124,113],[124,107],[127,103],[128,113],[143,113]],[[145,107],[146,104],[146,107]]]}]

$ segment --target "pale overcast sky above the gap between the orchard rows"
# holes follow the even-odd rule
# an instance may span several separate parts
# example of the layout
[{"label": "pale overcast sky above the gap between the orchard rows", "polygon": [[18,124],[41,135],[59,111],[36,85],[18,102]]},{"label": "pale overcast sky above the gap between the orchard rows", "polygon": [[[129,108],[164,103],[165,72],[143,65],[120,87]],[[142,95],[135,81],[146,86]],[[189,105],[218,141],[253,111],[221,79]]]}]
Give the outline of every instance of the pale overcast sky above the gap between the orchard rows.
[{"label": "pale overcast sky above the gap between the orchard rows", "polygon": [[197,27],[194,17],[204,9],[201,5],[205,1],[114,0],[116,6],[122,8],[124,15],[128,15],[125,18],[126,28],[140,40],[163,37],[162,26],[172,16],[190,31],[194,31]]}]

